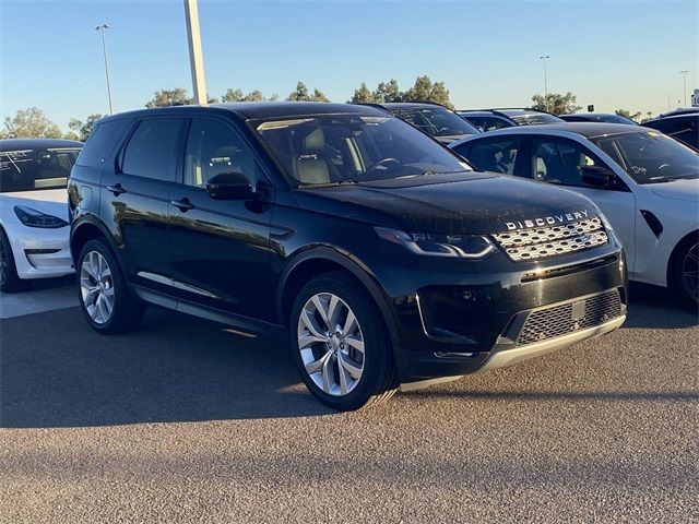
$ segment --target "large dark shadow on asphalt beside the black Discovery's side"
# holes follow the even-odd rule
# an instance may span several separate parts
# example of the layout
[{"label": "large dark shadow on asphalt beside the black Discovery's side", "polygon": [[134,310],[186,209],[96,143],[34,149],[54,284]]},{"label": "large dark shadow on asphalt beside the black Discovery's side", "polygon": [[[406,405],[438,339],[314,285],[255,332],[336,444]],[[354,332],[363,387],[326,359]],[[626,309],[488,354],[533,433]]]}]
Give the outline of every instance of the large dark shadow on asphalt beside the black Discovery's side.
[{"label": "large dark shadow on asphalt beside the black Discovery's side", "polygon": [[125,335],[93,332],[78,308],[0,322],[3,428],[330,413],[271,336],[155,308]]}]

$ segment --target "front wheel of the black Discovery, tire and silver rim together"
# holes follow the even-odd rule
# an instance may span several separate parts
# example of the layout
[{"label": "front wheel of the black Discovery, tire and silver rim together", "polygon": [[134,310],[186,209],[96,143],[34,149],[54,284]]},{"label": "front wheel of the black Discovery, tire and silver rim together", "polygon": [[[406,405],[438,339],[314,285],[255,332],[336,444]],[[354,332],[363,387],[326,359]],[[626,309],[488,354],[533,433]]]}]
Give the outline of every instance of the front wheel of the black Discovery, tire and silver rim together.
[{"label": "front wheel of the black Discovery, tire and silver rim together", "polygon": [[292,309],[292,348],[301,379],[323,404],[358,409],[393,395],[398,378],[381,313],[344,273],[309,282]]}]

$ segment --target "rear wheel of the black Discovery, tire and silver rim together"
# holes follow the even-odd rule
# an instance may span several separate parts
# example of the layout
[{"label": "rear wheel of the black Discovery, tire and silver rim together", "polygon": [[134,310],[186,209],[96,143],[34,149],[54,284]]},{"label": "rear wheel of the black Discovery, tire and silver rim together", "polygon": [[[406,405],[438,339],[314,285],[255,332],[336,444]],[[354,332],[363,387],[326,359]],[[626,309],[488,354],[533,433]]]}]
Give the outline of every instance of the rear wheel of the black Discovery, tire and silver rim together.
[{"label": "rear wheel of the black Discovery, tire and silver rim together", "polygon": [[99,333],[121,333],[138,326],[143,305],[127,286],[116,258],[104,240],[90,240],[78,260],[80,305]]}]

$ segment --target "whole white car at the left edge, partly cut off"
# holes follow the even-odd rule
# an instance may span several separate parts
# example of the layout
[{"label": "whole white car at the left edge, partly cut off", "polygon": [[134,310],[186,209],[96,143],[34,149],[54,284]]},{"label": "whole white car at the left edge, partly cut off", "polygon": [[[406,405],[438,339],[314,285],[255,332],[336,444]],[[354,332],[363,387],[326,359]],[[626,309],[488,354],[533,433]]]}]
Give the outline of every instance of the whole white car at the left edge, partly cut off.
[{"label": "whole white car at the left edge, partly cut off", "polygon": [[0,140],[0,290],[73,273],[68,176],[82,142]]}]

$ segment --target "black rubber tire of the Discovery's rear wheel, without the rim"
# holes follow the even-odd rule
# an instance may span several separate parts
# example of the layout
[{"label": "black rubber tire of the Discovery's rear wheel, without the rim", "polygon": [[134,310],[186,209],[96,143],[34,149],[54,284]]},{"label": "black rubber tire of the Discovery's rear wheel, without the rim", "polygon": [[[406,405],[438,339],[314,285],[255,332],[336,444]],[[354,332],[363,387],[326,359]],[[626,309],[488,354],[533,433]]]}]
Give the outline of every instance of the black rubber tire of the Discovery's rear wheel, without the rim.
[{"label": "black rubber tire of the Discovery's rear wheel, without the rim", "polygon": [[[104,322],[97,322],[92,318],[91,313],[83,300],[83,289],[81,279],[83,263],[85,258],[91,253],[99,253],[106,261],[110,272],[110,286],[114,290],[114,302],[111,312],[108,319]],[[94,255],[93,255],[94,257]],[[132,291],[126,282],[123,273],[117,262],[116,257],[112,254],[111,249],[102,239],[90,240],[80,252],[78,258],[78,265],[75,267],[78,273],[78,298],[80,300],[80,309],[87,323],[98,333],[116,334],[125,333],[134,330],[141,323],[145,308],[143,303],[133,296]]]}]

